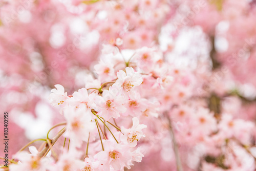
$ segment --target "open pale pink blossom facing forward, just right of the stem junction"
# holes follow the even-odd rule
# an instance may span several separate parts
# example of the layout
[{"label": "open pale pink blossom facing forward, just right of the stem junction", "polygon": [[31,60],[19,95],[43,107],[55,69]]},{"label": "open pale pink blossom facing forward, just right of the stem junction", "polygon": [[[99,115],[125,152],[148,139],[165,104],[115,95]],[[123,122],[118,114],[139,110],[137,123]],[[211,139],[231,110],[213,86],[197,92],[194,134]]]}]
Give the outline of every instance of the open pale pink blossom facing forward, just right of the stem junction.
[{"label": "open pale pink blossom facing forward, just right of the stem junction", "polygon": [[124,113],[126,108],[124,107],[125,99],[118,93],[115,88],[110,88],[110,90],[104,90],[101,96],[96,98],[96,109],[98,110],[98,115],[102,116],[105,120],[110,118],[120,117],[120,113]]}]

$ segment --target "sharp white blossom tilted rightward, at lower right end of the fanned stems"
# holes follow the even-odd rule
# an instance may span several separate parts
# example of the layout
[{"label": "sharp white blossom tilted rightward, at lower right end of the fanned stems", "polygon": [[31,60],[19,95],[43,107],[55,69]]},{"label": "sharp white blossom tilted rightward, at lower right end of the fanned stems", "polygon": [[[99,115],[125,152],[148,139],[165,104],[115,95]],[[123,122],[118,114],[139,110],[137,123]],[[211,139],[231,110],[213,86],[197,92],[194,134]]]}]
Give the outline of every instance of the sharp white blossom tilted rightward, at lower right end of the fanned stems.
[{"label": "sharp white blossom tilted rightward, at lower right end of the fanned stems", "polygon": [[130,129],[125,129],[123,126],[121,127],[121,132],[123,133],[123,135],[121,135],[121,140],[124,143],[128,143],[130,147],[135,147],[137,141],[139,141],[141,137],[145,137],[142,129],[146,127],[147,126],[144,124],[139,124],[139,119],[134,117],[133,126]]}]

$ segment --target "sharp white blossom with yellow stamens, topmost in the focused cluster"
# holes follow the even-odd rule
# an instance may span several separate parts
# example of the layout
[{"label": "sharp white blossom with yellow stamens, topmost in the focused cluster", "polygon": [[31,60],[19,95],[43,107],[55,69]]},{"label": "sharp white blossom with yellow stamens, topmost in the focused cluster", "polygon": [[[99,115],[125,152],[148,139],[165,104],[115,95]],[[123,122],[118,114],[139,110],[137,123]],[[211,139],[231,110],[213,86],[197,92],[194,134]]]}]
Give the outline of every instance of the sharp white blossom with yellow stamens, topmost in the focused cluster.
[{"label": "sharp white blossom with yellow stamens, topmost in the focused cluster", "polygon": [[125,71],[118,71],[117,77],[118,79],[113,84],[113,87],[121,90],[121,94],[129,99],[135,96],[134,88],[139,86],[143,79],[141,78],[139,73],[135,73],[132,67],[126,67]]}]

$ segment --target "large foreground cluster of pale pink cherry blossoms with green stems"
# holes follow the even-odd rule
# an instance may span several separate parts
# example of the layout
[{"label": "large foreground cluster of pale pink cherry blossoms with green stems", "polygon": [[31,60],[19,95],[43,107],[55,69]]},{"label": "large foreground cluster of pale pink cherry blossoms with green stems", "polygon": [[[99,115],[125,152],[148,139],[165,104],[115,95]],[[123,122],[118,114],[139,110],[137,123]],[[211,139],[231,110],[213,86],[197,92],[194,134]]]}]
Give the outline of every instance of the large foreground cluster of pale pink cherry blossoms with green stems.
[{"label": "large foreground cluster of pale pink cherry blossoms with green stems", "polygon": [[[98,79],[91,80],[86,88],[69,96],[60,84],[56,84],[56,89],[50,94],[52,105],[61,106],[60,113],[66,119],[66,123],[63,123],[66,125],[65,131],[62,129],[65,133],[61,134],[70,139],[69,150],[63,151],[58,161],[54,161],[46,155],[47,152],[45,157],[40,158],[35,147],[30,146],[31,154],[21,152],[15,155],[19,162],[11,164],[10,170],[124,170],[124,167],[131,168],[134,165],[132,161],[141,162],[144,156],[140,147],[137,147],[137,142],[145,136],[142,129],[147,126],[139,124],[140,113],[133,109],[138,108],[137,101],[141,100],[137,87],[143,79],[131,67],[126,67],[125,72],[118,71],[117,78],[114,69],[108,68],[108,65],[103,64],[97,71],[101,70],[115,81],[111,77],[110,82],[102,84]],[[147,100],[144,100],[144,108],[139,107],[137,111],[146,110]],[[128,129],[116,125],[114,119],[120,117],[125,117],[125,126],[130,126]],[[87,143],[86,151],[79,151],[77,148],[83,142]]]}]

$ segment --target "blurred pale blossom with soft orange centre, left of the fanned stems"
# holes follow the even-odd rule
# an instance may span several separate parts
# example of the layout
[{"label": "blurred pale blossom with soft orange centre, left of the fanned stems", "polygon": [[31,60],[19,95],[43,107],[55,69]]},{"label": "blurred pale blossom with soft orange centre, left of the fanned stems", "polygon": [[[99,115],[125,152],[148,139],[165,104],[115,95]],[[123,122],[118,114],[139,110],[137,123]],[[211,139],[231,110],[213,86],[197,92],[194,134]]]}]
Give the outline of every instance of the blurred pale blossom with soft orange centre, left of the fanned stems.
[{"label": "blurred pale blossom with soft orange centre, left of the fanned stems", "polygon": [[92,113],[86,107],[67,108],[64,111],[67,120],[65,136],[72,139],[71,145],[80,147],[82,141],[88,141],[89,133],[95,130],[95,122],[92,122]]}]

